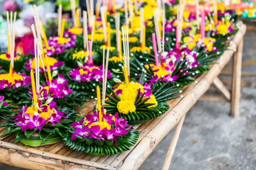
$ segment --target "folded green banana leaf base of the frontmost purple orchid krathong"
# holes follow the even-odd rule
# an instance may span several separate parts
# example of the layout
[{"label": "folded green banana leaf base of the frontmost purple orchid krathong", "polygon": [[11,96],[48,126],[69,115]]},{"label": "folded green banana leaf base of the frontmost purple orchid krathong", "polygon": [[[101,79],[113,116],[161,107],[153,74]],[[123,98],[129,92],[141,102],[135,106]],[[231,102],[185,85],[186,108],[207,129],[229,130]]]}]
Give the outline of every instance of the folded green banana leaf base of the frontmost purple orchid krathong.
[{"label": "folded green banana leaf base of the frontmost purple orchid krathong", "polygon": [[139,131],[133,129],[129,131],[127,135],[118,137],[116,148],[113,140],[95,140],[91,138],[78,138],[78,140],[71,139],[72,133],[68,133],[64,138],[65,145],[73,150],[81,151],[94,156],[110,155],[116,153],[122,153],[126,150],[130,150],[129,147],[136,144]]}]

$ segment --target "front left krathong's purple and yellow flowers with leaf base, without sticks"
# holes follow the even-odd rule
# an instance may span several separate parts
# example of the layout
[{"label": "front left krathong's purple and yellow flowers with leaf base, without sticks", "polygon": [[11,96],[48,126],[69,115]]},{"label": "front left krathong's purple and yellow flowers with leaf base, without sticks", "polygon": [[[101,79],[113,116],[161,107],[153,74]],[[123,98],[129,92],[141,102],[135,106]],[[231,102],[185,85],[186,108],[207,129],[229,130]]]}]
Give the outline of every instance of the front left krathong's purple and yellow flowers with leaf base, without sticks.
[{"label": "front left krathong's purple and yellow flowers with leaf base, without sticks", "polygon": [[15,113],[13,117],[0,125],[8,127],[2,138],[16,133],[15,143],[21,142],[24,145],[37,147],[50,145],[61,140],[60,133],[65,133],[70,122],[78,120],[77,112],[68,110],[67,107],[57,108],[56,102],[46,100],[42,104],[33,102],[30,107],[22,107],[22,111]]}]

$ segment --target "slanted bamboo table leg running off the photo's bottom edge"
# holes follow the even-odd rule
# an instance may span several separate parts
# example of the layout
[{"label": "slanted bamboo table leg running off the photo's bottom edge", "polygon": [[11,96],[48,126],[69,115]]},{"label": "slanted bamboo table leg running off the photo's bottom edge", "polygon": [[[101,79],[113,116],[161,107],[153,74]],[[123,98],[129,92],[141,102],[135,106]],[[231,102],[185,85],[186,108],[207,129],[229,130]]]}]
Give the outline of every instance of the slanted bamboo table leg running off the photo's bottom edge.
[{"label": "slanted bamboo table leg running off the photo's bottom edge", "polygon": [[173,156],[174,150],[176,148],[176,145],[177,145],[177,142],[179,139],[179,134],[180,134],[185,117],[186,117],[186,115],[184,115],[181,118],[181,120],[179,120],[179,123],[176,126],[176,129],[175,129],[173,137],[172,137],[172,142],[169,146],[169,149],[166,154],[166,158],[164,160],[164,166],[163,166],[162,170],[169,170],[170,164],[172,162],[172,156]]}]

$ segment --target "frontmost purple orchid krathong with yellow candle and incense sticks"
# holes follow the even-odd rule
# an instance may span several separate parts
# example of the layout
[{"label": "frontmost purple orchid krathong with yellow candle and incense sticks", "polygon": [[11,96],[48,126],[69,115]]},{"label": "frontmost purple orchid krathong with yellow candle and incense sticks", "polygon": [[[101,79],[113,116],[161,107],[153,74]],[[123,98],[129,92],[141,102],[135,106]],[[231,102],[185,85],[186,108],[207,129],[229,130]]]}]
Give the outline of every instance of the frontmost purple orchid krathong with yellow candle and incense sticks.
[{"label": "frontmost purple orchid krathong with yellow candle and incense sticks", "polygon": [[[107,52],[107,61],[109,48]],[[105,60],[105,57],[103,57]],[[110,155],[129,150],[138,140],[139,132],[127,125],[124,118],[118,113],[111,115],[104,109],[105,92],[107,85],[108,62],[103,72],[102,105],[100,100],[100,87],[97,86],[97,108],[93,114],[85,119],[71,124],[69,133],[64,134],[65,144],[70,148],[90,155]]]}]

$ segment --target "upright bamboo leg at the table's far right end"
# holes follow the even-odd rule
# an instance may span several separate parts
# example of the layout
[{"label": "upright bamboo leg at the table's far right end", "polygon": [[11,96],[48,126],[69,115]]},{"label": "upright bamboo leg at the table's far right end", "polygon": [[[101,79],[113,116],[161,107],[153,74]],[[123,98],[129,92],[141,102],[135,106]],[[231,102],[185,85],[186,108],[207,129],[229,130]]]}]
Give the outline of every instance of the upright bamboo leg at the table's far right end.
[{"label": "upright bamboo leg at the table's far right end", "polygon": [[238,45],[233,59],[231,116],[239,117],[239,103],[241,98],[241,70],[242,70],[243,40]]}]

